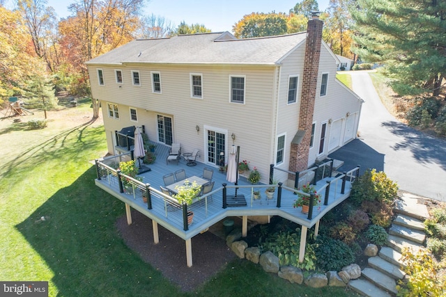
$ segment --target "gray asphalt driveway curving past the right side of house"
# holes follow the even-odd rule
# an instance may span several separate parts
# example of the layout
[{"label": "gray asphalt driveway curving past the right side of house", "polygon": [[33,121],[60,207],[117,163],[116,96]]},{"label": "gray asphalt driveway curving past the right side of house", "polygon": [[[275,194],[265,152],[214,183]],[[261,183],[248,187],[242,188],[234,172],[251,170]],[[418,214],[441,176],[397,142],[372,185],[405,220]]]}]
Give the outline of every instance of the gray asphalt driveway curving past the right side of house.
[{"label": "gray asphalt driveway curving past the right side of house", "polygon": [[359,138],[330,157],[344,161],[339,170],[357,165],[383,170],[399,188],[446,201],[446,141],[402,124],[385,109],[364,71],[349,72],[353,90],[364,99]]}]

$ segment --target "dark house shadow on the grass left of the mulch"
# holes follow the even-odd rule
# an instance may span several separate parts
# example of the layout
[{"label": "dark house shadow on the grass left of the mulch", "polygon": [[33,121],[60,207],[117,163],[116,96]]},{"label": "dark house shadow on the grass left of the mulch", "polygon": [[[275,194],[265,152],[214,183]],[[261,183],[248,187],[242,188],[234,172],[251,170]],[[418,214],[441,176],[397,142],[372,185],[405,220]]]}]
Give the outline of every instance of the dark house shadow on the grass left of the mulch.
[{"label": "dark house shadow on the grass left of the mulch", "polygon": [[53,271],[58,295],[176,294],[175,287],[125,246],[114,227],[124,204],[96,187],[94,178],[93,166],[16,226]]}]

